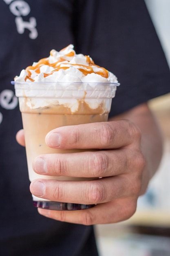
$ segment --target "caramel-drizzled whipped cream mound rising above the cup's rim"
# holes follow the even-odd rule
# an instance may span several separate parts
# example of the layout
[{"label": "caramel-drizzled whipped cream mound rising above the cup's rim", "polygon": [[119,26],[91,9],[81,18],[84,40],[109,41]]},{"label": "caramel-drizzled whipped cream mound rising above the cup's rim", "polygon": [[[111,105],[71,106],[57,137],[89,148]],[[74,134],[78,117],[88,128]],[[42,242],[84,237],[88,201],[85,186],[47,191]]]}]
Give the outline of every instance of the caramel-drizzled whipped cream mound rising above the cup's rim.
[{"label": "caramel-drizzled whipped cream mound rising above the cup's rim", "polygon": [[117,83],[117,77],[104,67],[95,65],[90,56],[76,54],[73,45],[34,62],[15,76],[16,82],[97,82]]}]

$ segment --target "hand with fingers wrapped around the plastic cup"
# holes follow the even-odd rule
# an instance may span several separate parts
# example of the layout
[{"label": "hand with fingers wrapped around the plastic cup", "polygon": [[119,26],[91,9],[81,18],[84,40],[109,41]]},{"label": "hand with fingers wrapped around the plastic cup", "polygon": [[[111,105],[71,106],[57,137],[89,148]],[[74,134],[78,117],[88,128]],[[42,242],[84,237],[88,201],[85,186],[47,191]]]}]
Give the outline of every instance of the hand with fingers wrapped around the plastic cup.
[{"label": "hand with fingers wrapped around the plastic cup", "polygon": [[[97,205],[79,211],[38,209],[39,213],[55,220],[84,225],[113,223],[130,218],[135,213],[142,189],[145,161],[140,141],[140,130],[128,120],[64,126],[49,132],[46,144],[52,148],[100,150],[41,155],[33,163],[35,172],[96,180],[39,179],[31,182],[31,193],[51,201]],[[42,159],[45,164],[40,162]],[[40,185],[43,185],[43,189]]]}]

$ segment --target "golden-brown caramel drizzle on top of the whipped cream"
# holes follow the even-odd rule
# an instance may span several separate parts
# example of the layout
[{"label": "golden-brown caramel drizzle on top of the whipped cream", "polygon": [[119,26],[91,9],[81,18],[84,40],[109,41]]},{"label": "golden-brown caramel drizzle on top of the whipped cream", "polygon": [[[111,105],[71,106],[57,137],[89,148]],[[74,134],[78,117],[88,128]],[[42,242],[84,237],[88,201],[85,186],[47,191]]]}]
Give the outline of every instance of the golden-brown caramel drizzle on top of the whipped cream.
[{"label": "golden-brown caramel drizzle on top of the whipped cream", "polygon": [[[68,54],[66,54],[66,56],[67,57],[73,57],[74,54],[75,53],[72,51],[72,52],[69,52]],[[52,52],[50,52],[50,55],[51,56],[53,55]],[[94,61],[91,60],[91,58],[89,56],[85,55],[85,57],[86,57],[86,61],[87,61],[89,66],[85,66],[85,65],[81,65],[81,64],[70,64],[70,65],[77,66],[77,69],[79,71],[81,71],[85,76],[87,74],[95,73],[95,74],[99,74],[100,76],[103,76],[105,78],[108,78],[108,70],[106,70],[104,67],[100,67],[98,65],[95,65]],[[53,74],[56,71],[59,71],[60,69],[62,69],[62,70],[68,69],[69,66],[61,67],[61,65],[63,65],[63,64],[69,65],[69,63],[64,63],[64,61],[66,61],[66,60],[61,58],[59,61],[50,64],[49,63],[49,58],[42,58],[42,59],[40,59],[40,61],[38,61],[38,63],[34,67],[33,66],[26,67],[25,70],[28,73],[28,75],[26,76],[25,81],[27,79],[29,79],[32,82],[35,81],[34,79],[31,79],[31,70],[34,70],[37,74],[40,74],[40,67],[42,67],[43,65],[48,65],[49,67],[53,67],[54,68],[54,70],[49,72],[48,74],[44,73],[44,77],[50,76],[51,74]],[[93,70],[92,66],[95,66],[95,67],[99,68],[100,70],[95,72]]]}]

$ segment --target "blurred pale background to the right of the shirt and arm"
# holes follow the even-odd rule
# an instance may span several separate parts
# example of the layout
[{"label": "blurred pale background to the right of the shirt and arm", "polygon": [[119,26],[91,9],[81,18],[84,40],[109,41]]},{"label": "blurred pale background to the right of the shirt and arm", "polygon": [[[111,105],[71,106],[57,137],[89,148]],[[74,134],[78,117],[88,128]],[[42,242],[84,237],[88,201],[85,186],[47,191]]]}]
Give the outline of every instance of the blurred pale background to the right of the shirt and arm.
[{"label": "blurred pale background to the right of the shirt and arm", "polygon": [[[145,2],[170,67],[170,0]],[[170,256],[170,93],[149,105],[162,131],[163,159],[135,215],[96,226],[100,256]]]}]

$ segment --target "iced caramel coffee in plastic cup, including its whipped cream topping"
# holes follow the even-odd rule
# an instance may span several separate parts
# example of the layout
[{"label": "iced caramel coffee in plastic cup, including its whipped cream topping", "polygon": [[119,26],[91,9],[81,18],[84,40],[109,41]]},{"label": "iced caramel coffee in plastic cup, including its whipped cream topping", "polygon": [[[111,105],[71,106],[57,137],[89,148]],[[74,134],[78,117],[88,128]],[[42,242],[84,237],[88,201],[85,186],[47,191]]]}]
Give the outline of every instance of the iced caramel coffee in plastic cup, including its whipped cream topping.
[{"label": "iced caramel coffee in plastic cup, including its whipped cream topping", "polygon": [[[34,63],[35,68],[33,66],[28,67],[29,72],[28,70],[22,71],[20,76],[16,77],[15,81],[12,82],[15,84],[15,94],[19,98],[19,106],[22,113],[30,181],[38,178],[54,180],[87,180],[87,178],[82,177],[42,176],[33,171],[32,164],[34,159],[41,154],[74,153],[82,151],[77,149],[62,150],[49,148],[45,144],[45,136],[49,131],[61,126],[108,120],[112,98],[115,97],[115,91],[119,84],[117,81],[112,82],[106,80],[104,77],[102,77],[102,82],[93,81],[92,77],[91,79],[89,77],[89,81],[86,81],[87,74],[91,73],[84,75],[84,73],[80,71],[82,66],[85,66],[84,64],[76,63],[79,68],[77,69],[77,67],[75,67],[73,63],[71,64],[70,61],[64,61],[64,58],[66,59],[67,57],[66,55],[71,55],[71,53],[72,55],[74,53],[75,58],[77,58],[77,54],[75,54],[72,46],[68,46],[65,50],[60,52],[55,51],[53,52],[53,61],[49,60],[50,57],[45,58],[45,61],[42,59],[47,67],[44,67],[44,64],[42,65],[42,60],[40,60],[38,62],[39,64]],[[55,54],[62,56],[55,56],[54,58]],[[56,70],[53,72],[49,67],[52,67],[53,63],[56,65],[56,59],[60,62],[60,67],[62,62],[63,69],[59,67],[59,69],[56,70],[56,67],[53,67],[53,70]],[[83,55],[81,55],[81,58],[79,56],[79,60],[76,61],[81,62],[82,59],[84,59]],[[73,56],[71,60],[73,61]],[[70,67],[64,69],[68,63]],[[94,68],[95,66],[93,67],[93,65],[90,66],[90,68]],[[86,67],[88,68],[87,63]],[[43,72],[41,79],[40,76],[42,71],[40,71],[40,68],[45,71]],[[68,69],[71,69],[70,74]],[[61,70],[62,76],[57,73],[61,73]],[[67,72],[64,73],[65,70]],[[77,79],[77,75],[73,78],[74,72],[76,73],[77,71],[78,73],[79,71],[82,73],[79,73],[79,76],[82,75],[81,79],[80,77]],[[92,74],[94,75],[96,73],[93,72]],[[53,76],[53,78],[51,76]],[[60,77],[56,78],[54,76]],[[101,75],[97,74],[97,76]],[[52,202],[35,197],[34,195],[33,204],[35,207],[53,210],[79,210],[94,206],[75,204],[74,202]]]}]

